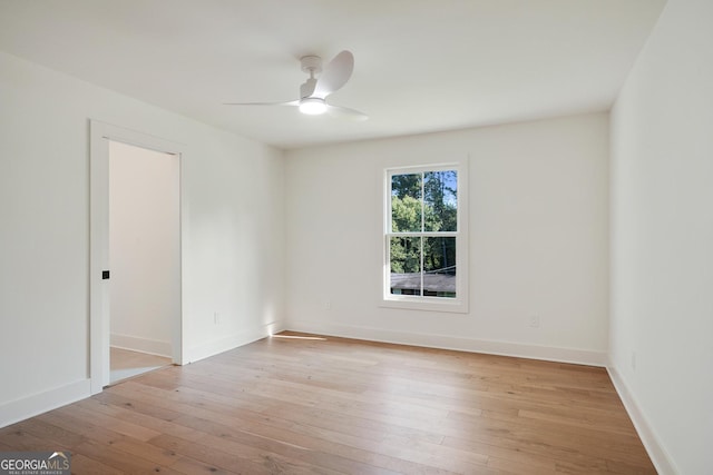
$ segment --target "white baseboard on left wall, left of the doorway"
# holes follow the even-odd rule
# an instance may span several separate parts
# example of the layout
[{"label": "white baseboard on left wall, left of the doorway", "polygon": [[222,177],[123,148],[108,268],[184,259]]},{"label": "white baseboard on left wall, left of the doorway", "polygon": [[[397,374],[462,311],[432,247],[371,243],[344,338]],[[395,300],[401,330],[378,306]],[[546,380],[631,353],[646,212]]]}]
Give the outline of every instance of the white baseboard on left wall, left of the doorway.
[{"label": "white baseboard on left wall, left of the doorway", "polygon": [[0,405],[0,427],[9,426],[10,424],[89,397],[91,396],[90,386],[89,379],[82,379],[2,404]]}]

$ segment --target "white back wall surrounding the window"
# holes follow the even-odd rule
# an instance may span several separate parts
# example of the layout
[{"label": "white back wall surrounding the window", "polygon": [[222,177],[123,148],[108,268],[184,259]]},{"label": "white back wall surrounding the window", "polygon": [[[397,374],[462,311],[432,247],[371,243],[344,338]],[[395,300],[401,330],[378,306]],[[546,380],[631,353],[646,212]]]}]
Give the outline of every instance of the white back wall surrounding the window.
[{"label": "white back wall surrounding the window", "polygon": [[[380,307],[384,168],[466,155],[469,314]],[[306,148],[285,164],[290,328],[605,364],[606,113]]]}]

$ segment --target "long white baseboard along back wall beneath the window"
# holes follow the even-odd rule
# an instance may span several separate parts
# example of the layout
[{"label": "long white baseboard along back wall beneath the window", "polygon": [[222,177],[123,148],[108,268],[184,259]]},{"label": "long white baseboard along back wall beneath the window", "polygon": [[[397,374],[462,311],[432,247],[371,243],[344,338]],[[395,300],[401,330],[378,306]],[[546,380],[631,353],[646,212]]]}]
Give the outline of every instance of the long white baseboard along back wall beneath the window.
[{"label": "long white baseboard along back wall beneath the window", "polygon": [[519,358],[544,359],[548,362],[574,363],[578,365],[605,367],[607,363],[606,353],[587,349],[525,345],[520,343],[459,338],[446,335],[427,335],[411,331],[393,331],[351,325],[325,325],[323,323],[305,320],[292,320],[287,324],[287,328],[294,331],[358,338],[371,342],[395,343],[400,345],[456,349],[471,353],[486,353],[489,355],[515,356]]}]

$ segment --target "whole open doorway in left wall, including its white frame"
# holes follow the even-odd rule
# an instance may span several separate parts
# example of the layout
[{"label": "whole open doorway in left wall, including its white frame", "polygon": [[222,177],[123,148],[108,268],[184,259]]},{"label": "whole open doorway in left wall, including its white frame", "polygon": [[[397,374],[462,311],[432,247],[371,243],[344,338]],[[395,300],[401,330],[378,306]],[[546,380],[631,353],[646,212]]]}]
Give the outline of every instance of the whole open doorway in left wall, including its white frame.
[{"label": "whole open doorway in left wall, including its white frame", "polygon": [[92,394],[182,364],[182,146],[90,122]]}]

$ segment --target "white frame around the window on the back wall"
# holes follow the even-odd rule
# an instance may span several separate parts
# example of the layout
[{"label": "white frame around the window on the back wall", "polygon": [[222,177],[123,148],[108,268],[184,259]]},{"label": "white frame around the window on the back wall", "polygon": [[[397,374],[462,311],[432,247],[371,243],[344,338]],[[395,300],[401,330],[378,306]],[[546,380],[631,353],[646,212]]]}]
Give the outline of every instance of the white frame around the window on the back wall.
[{"label": "white frame around the window on the back wall", "polygon": [[[431,296],[412,296],[391,294],[391,256],[390,256],[390,238],[400,236],[399,232],[391,232],[391,177],[393,175],[422,174],[427,171],[456,170],[458,178],[458,230],[448,232],[448,236],[456,237],[456,297],[431,297]],[[429,232],[422,232],[422,236]],[[433,236],[442,234],[433,232]],[[393,167],[384,170],[384,189],[383,189],[383,259],[382,259],[382,307],[403,308],[412,310],[430,310],[430,311],[449,311],[449,313],[468,313],[468,160],[436,164],[419,165],[409,167]]]}]

